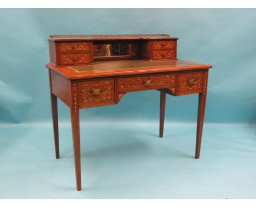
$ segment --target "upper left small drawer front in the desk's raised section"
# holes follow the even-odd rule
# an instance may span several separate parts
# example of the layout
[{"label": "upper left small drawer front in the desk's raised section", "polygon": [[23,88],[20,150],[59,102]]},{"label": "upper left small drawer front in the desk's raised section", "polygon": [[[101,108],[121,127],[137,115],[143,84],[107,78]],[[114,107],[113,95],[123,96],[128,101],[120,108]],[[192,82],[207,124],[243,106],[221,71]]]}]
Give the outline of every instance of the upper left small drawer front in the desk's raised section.
[{"label": "upper left small drawer front in the desk's raised section", "polygon": [[89,52],[89,42],[61,42],[60,52]]}]

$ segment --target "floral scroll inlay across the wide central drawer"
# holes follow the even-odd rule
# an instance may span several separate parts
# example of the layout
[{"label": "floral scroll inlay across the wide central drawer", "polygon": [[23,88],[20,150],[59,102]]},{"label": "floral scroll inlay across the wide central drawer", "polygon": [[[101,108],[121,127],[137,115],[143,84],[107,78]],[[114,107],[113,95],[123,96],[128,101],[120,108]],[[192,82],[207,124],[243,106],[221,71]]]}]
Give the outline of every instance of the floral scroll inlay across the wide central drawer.
[{"label": "floral scroll inlay across the wide central drawer", "polygon": [[137,89],[145,87],[160,87],[164,85],[173,85],[175,82],[175,75],[159,75],[159,76],[143,76],[130,77],[119,79],[119,89]]}]

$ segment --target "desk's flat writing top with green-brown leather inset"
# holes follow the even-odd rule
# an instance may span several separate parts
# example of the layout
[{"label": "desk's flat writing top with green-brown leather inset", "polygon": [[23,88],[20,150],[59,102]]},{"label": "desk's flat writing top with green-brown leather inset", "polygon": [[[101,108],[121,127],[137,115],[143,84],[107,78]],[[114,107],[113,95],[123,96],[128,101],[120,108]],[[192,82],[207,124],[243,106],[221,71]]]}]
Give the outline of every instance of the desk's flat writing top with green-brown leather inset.
[{"label": "desk's flat writing top with green-brown leather inset", "polygon": [[96,62],[95,64],[83,66],[56,67],[53,64],[47,64],[46,66],[70,79],[212,68],[209,64],[188,62],[185,60],[167,60],[161,62],[148,62],[144,60],[115,60]]}]

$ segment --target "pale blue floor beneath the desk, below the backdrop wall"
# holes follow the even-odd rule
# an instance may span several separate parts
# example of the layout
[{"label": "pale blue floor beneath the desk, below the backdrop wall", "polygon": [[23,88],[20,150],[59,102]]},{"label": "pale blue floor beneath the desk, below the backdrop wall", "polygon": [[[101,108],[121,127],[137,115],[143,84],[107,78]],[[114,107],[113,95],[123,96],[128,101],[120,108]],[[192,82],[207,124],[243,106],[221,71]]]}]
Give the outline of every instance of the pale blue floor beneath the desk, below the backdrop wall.
[{"label": "pale blue floor beneath the desk, below the backdrop wall", "polygon": [[70,124],[54,158],[50,123],[0,127],[1,199],[256,199],[256,126],[81,124],[82,191],[75,189]]}]

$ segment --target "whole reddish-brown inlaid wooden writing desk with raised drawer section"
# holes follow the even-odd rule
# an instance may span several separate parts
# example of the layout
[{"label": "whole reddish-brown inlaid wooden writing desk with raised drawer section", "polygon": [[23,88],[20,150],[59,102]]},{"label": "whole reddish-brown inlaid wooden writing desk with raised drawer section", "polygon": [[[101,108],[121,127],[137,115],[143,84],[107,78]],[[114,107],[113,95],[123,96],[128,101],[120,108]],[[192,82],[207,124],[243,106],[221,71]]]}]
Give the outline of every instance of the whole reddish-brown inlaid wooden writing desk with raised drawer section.
[{"label": "whole reddish-brown inlaid wooden writing desk with raised drawer section", "polygon": [[50,35],[51,110],[59,154],[57,97],[70,108],[77,190],[81,189],[79,109],[117,104],[132,91],[160,91],[163,136],[166,94],[199,94],[195,158],[200,156],[208,64],[177,59],[177,39],[153,35]]}]

